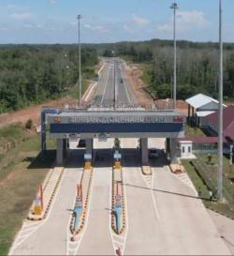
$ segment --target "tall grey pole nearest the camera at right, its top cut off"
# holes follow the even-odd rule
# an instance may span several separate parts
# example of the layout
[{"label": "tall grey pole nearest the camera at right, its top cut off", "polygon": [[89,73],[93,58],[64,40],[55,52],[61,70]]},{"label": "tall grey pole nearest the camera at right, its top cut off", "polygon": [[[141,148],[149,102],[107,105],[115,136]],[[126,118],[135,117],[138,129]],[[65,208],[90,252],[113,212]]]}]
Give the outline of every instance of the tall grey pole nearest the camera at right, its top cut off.
[{"label": "tall grey pole nearest the camera at right, its top cut off", "polygon": [[222,0],[219,0],[219,44],[220,44],[220,60],[219,60],[219,126],[218,126],[218,170],[217,170],[217,197],[219,201],[223,200],[223,83],[224,83],[224,67],[223,67],[223,8]]}]

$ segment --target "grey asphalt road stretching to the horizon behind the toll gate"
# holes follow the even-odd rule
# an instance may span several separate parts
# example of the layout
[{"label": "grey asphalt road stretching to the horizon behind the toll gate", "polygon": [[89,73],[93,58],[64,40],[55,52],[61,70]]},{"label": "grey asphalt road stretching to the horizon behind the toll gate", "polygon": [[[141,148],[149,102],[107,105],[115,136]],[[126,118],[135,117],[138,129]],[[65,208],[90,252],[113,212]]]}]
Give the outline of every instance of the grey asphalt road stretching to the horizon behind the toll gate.
[{"label": "grey asphalt road stretching to the horizon behind the toll gate", "polygon": [[110,59],[105,62],[105,67],[97,84],[95,105],[131,105],[136,103],[125,78],[124,62],[120,59]]}]

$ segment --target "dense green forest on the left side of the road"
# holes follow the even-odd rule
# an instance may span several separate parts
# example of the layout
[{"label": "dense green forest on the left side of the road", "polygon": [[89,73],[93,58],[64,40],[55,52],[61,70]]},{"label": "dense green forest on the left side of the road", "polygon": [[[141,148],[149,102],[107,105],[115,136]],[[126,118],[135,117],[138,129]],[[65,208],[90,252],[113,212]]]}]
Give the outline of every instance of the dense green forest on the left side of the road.
[{"label": "dense green forest on the left side of the road", "polygon": [[[97,53],[85,45],[82,78],[95,76]],[[0,113],[59,98],[79,79],[76,45],[0,46]]]}]

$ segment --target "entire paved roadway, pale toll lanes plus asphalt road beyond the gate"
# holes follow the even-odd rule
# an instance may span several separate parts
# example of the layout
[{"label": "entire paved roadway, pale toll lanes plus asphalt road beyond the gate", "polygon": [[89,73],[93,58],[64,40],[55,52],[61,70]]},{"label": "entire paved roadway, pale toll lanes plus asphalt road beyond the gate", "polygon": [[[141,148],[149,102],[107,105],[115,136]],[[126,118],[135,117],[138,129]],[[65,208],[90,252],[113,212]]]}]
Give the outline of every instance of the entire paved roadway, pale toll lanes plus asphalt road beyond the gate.
[{"label": "entire paved roadway, pale toll lanes plus asphalt road beyond the gate", "polygon": [[[130,105],[138,101],[124,75],[124,63],[105,62],[97,84],[94,105]],[[149,146],[164,148],[165,139],[149,139]],[[151,161],[152,176],[141,173],[138,139],[121,139],[126,202],[124,255],[229,255],[207,209],[197,199],[190,183],[171,173],[163,153]],[[72,255],[114,255],[114,235],[110,227],[113,139],[98,142],[94,180],[87,223]],[[74,151],[67,160],[66,173],[51,208],[50,217],[28,235],[15,255],[65,255],[70,209],[80,180],[82,156]],[[81,154],[81,153],[80,153]],[[19,233],[21,235],[21,232]]]}]

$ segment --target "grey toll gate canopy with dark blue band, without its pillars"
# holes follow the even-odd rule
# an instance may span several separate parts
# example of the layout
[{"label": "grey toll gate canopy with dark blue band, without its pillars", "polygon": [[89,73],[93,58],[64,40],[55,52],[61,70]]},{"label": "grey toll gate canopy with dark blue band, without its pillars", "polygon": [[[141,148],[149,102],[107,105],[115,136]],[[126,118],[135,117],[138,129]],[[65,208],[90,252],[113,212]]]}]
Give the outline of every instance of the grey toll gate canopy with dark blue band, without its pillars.
[{"label": "grey toll gate canopy with dark blue band, without its pillars", "polygon": [[82,110],[49,113],[52,139],[178,138],[184,135],[185,116],[174,111]]}]

